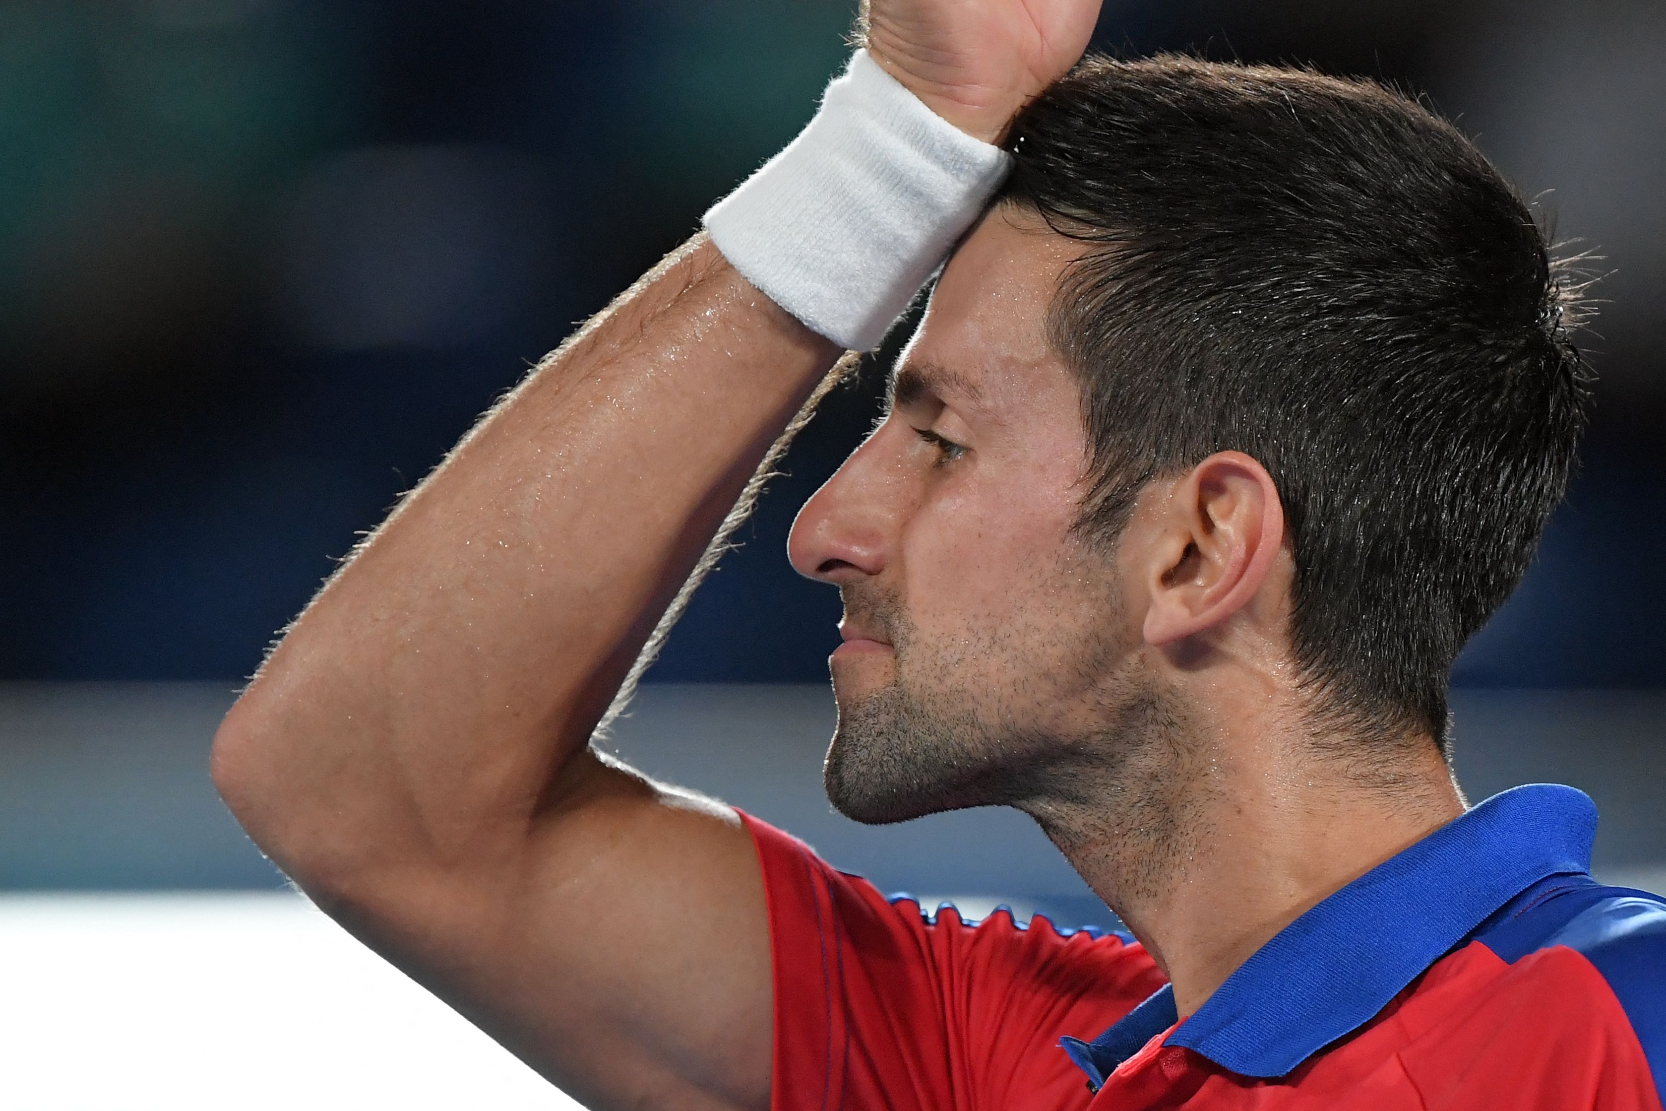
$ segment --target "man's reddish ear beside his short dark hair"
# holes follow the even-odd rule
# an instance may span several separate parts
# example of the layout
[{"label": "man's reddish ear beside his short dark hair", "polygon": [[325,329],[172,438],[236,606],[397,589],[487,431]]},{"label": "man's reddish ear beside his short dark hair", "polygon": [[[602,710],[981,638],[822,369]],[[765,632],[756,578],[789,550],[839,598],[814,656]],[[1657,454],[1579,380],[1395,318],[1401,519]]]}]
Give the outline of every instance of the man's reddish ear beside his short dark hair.
[{"label": "man's reddish ear beside his short dark hair", "polygon": [[1175,481],[1145,531],[1145,640],[1168,645],[1250,605],[1284,543],[1284,505],[1264,466],[1218,451]]}]

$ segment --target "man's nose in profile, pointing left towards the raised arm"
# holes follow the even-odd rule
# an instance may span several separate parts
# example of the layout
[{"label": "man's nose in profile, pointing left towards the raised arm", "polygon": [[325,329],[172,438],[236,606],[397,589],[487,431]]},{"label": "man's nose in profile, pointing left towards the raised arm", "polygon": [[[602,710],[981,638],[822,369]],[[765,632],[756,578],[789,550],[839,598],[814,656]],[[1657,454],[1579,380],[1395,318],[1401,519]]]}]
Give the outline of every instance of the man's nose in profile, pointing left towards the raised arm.
[{"label": "man's nose in profile, pointing left towards the raised arm", "polygon": [[885,570],[906,508],[898,468],[886,460],[890,425],[868,436],[798,511],[786,558],[805,578],[843,586]]}]

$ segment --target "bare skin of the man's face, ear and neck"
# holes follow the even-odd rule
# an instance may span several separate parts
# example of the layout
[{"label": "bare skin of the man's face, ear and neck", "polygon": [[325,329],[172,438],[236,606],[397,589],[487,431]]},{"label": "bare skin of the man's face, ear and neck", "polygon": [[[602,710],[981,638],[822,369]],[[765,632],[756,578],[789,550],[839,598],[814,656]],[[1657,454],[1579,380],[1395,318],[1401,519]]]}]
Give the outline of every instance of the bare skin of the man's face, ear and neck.
[{"label": "bare skin of the man's face, ear and neck", "polygon": [[[943,272],[896,403],[803,508],[840,586],[828,793],[865,821],[1016,806],[1195,1011],[1324,894],[1463,813],[1429,738],[1388,778],[1313,745],[1273,480],[1223,451],[1073,525],[1088,445],[1046,310],[1080,245],[998,208]],[[925,433],[925,435],[921,435]]]}]

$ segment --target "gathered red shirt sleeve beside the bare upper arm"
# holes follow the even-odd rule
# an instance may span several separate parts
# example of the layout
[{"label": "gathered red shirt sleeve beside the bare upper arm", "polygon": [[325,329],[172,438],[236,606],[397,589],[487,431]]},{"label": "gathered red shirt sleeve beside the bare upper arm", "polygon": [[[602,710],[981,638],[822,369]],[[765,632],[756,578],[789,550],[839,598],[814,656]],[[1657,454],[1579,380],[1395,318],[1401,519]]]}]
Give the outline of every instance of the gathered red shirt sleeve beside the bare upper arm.
[{"label": "gathered red shirt sleeve beside the bare upper arm", "polygon": [[741,820],[770,906],[775,1111],[1085,1108],[1060,1038],[1095,1038],[1165,983],[1120,934],[931,919]]}]

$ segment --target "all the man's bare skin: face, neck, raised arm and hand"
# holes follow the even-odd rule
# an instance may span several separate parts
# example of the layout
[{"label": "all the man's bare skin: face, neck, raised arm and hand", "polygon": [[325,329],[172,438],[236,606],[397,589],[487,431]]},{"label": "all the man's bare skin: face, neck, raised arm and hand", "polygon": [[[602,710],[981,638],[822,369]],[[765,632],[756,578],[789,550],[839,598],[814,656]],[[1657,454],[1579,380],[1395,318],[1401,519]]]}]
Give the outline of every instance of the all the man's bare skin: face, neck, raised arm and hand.
[{"label": "all the man's bare skin: face, neck, raised arm and hand", "polygon": [[[1038,12],[1048,33],[1013,30]],[[896,0],[870,23],[886,68],[998,135],[1095,12]],[[1313,743],[1253,458],[1153,481],[1111,550],[1073,531],[1080,395],[1045,315],[1075,250],[1010,210],[965,240],[895,410],[805,506],[791,560],[848,608],[833,798],[866,820],[1028,811],[1185,1014],[1463,800],[1429,738],[1389,778]],[[588,1106],[770,1103],[746,833],[586,741],[836,356],[693,240],[403,501],[215,741],[232,810],[308,894]]]}]

